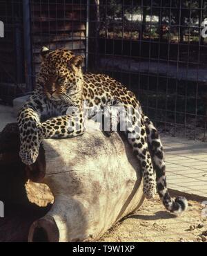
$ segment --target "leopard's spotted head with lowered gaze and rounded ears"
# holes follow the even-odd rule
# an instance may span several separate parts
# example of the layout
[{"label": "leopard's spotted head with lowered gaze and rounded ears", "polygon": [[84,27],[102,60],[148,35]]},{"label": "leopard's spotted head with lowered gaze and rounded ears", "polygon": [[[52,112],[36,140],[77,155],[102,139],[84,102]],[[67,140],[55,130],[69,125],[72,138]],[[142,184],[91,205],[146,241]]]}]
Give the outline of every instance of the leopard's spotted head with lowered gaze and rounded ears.
[{"label": "leopard's spotted head with lowered gaze and rounded ears", "polygon": [[70,102],[71,95],[79,93],[83,86],[83,57],[66,49],[50,51],[43,47],[41,58],[39,84],[47,98]]}]

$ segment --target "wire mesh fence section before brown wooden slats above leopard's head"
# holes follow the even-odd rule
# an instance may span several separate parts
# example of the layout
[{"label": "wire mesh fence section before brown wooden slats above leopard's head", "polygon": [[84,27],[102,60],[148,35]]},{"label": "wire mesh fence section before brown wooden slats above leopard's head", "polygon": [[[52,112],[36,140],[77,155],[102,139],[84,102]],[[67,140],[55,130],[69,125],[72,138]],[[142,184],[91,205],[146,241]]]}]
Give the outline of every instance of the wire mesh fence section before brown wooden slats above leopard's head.
[{"label": "wire mesh fence section before brown wooden slats above leopard's head", "polygon": [[[39,72],[42,46],[66,48],[83,55],[87,48],[87,1],[31,1],[32,63],[34,77]],[[86,67],[86,63],[83,68]]]}]

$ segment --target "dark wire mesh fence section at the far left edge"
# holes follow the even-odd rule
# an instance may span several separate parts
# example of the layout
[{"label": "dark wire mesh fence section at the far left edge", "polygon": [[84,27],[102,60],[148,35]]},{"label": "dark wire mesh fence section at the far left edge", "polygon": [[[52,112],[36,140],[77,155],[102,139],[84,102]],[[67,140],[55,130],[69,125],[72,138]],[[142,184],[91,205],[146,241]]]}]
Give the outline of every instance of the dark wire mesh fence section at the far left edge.
[{"label": "dark wire mesh fence section at the far left edge", "polygon": [[0,38],[0,98],[4,102],[25,89],[23,65],[22,1],[0,0],[0,20],[3,37]]}]

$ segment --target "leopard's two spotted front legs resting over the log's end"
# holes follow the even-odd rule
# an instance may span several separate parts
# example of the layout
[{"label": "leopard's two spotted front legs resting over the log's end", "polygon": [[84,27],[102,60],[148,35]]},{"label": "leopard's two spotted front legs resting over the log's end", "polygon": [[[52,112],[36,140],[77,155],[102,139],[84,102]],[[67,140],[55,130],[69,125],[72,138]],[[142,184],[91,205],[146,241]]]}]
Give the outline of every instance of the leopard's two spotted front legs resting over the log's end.
[{"label": "leopard's two spotted front legs resting over the log's end", "polygon": [[40,117],[41,111],[26,105],[17,118],[21,142],[19,156],[26,165],[37,161],[43,138],[69,138],[83,134],[83,115],[80,111],[74,116],[59,116],[43,123]]}]

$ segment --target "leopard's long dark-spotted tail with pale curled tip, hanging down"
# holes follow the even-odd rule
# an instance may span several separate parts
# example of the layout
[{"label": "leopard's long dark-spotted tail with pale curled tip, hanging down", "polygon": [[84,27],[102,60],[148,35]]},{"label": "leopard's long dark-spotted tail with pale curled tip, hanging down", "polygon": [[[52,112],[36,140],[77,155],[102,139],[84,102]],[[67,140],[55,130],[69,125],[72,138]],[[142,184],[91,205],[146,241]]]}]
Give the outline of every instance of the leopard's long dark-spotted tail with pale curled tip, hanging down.
[{"label": "leopard's long dark-spotted tail with pale curled tip, hanging down", "polygon": [[144,116],[146,132],[148,136],[148,147],[152,157],[153,167],[156,172],[157,192],[164,206],[170,212],[181,214],[188,209],[188,201],[185,197],[172,199],[167,188],[166,164],[164,161],[164,148],[161,144],[159,133],[147,116]]}]

